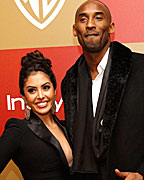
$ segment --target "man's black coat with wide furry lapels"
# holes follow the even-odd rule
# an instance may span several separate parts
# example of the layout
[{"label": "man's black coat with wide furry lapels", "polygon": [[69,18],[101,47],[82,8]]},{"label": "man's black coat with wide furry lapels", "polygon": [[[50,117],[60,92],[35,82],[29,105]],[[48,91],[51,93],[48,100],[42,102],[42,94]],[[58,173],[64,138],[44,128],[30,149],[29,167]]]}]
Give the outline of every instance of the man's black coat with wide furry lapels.
[{"label": "man's black coat with wide furry lapels", "polygon": [[[144,55],[111,43],[111,68],[103,113],[105,180],[121,179],[114,170],[144,174]],[[77,62],[62,81],[65,118],[72,142],[78,102]],[[79,128],[79,127],[76,127]]]}]

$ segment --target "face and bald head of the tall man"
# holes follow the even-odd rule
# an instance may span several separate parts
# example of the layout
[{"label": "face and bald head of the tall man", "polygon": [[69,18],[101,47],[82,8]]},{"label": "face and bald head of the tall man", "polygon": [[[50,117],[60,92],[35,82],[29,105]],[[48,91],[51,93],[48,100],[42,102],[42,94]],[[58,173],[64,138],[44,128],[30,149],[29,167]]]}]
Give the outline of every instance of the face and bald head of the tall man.
[{"label": "face and bald head of the tall man", "polygon": [[114,24],[108,9],[100,2],[90,0],[76,13],[73,34],[78,37],[84,51],[100,52],[114,32]]}]

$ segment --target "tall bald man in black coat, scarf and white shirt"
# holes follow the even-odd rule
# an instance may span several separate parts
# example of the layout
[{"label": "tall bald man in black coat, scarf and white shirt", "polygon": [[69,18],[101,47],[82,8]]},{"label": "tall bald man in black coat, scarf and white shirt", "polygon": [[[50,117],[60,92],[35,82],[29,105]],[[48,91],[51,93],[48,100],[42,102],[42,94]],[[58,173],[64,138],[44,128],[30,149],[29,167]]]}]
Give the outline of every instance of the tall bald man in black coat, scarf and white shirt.
[{"label": "tall bald man in black coat, scarf and white shirt", "polygon": [[62,81],[73,173],[95,180],[144,176],[144,55],[111,42],[108,7],[88,0],[77,10],[73,34],[83,54]]}]

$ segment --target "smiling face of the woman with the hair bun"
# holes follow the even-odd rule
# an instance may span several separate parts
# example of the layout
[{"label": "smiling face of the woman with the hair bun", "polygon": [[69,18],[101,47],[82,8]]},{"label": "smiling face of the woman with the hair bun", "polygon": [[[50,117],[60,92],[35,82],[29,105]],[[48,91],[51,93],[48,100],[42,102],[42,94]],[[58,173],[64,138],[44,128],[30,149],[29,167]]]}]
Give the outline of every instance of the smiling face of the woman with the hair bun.
[{"label": "smiling face of the woman with the hair bun", "polygon": [[38,116],[51,112],[55,90],[47,74],[42,71],[32,72],[24,84],[24,100]]}]

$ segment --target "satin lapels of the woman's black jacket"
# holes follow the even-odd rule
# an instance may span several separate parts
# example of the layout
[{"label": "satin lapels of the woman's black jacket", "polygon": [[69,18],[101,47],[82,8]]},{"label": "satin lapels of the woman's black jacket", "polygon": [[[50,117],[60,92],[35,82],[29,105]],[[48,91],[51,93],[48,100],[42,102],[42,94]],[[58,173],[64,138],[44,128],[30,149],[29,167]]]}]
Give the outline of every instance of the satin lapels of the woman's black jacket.
[{"label": "satin lapels of the woman's black jacket", "polygon": [[[46,143],[51,143],[59,152],[60,158],[63,161],[64,165],[68,167],[68,162],[65,157],[65,154],[62,150],[62,147],[58,140],[54,137],[54,135],[48,130],[48,128],[44,125],[44,123],[40,120],[38,116],[36,116],[33,112],[31,113],[31,118],[27,123],[27,126],[32,130],[34,134],[36,134],[39,138],[41,138]],[[56,123],[62,128],[67,140],[68,135],[66,129],[58,122],[56,116],[54,116],[54,120]]]}]

